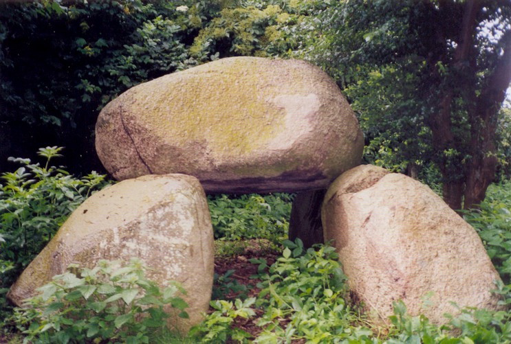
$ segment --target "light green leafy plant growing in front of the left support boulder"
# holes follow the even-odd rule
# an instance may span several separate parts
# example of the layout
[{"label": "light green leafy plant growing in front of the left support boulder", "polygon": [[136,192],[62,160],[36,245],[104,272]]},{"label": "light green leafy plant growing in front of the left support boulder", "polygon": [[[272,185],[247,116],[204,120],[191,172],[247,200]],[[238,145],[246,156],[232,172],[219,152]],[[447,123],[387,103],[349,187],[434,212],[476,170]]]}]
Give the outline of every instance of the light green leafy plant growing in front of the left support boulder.
[{"label": "light green leafy plant growing in front of the left support boulder", "polygon": [[166,328],[164,306],[187,318],[188,305],[179,284],[160,290],[146,270],[138,258],[128,264],[101,260],[91,269],[69,266],[15,310],[25,343],[150,343]]}]

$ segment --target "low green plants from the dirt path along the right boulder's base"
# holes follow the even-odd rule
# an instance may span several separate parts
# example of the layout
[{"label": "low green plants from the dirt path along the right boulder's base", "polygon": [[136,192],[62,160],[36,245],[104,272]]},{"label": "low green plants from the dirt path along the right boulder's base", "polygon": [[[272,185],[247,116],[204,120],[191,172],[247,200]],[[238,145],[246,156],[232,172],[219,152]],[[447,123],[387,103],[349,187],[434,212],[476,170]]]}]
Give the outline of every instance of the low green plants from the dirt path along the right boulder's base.
[{"label": "low green plants from the dirt path along the right boulder's base", "polygon": [[[215,312],[195,328],[192,340],[202,343],[511,343],[511,285],[500,283],[495,290],[501,295],[502,310],[463,308],[457,316],[446,314],[446,324],[439,326],[423,314],[408,314],[404,302],[396,301],[389,327],[377,328],[350,299],[347,279],[334,248],[316,245],[305,250],[300,240],[286,240],[284,245],[281,257],[271,266],[264,258],[250,260],[258,266],[258,273],[253,277],[261,279],[258,284],[261,292],[255,301],[214,301]],[[252,338],[239,332],[236,326],[240,319],[261,328],[259,334]]]}]

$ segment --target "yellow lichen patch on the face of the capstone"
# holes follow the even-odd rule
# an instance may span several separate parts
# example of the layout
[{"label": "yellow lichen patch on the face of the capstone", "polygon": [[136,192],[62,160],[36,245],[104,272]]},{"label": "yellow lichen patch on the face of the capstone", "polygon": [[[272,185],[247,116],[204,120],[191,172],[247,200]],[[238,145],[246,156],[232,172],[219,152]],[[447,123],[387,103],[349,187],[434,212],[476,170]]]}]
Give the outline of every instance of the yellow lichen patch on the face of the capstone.
[{"label": "yellow lichen patch on the face of the capstone", "polygon": [[[298,76],[292,75],[292,70],[287,72],[296,85],[283,90],[274,75],[264,73],[268,60],[255,61],[253,66],[235,61],[224,70],[206,73],[197,69],[182,71],[142,84],[126,97],[135,98],[133,102],[143,109],[137,115],[151,128],[152,135],[168,137],[185,146],[206,140],[208,150],[220,160],[224,155],[243,157],[266,148],[281,135],[276,130],[293,124],[287,118],[289,108],[276,95],[314,98],[300,89],[299,79],[294,79]],[[248,71],[250,67],[255,72]],[[293,110],[299,113],[298,108]]]}]

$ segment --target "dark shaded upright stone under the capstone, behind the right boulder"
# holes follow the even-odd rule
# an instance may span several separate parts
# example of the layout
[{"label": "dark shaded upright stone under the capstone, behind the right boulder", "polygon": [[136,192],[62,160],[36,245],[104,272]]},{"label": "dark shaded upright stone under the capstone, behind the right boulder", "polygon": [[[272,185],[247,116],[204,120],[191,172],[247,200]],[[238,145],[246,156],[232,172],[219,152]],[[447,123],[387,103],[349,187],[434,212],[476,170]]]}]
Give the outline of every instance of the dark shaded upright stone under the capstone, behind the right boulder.
[{"label": "dark shaded upright stone under the capstone, behind the right boulder", "polygon": [[300,192],[293,200],[290,217],[289,238],[299,238],[305,248],[323,243],[321,205],[327,190]]}]

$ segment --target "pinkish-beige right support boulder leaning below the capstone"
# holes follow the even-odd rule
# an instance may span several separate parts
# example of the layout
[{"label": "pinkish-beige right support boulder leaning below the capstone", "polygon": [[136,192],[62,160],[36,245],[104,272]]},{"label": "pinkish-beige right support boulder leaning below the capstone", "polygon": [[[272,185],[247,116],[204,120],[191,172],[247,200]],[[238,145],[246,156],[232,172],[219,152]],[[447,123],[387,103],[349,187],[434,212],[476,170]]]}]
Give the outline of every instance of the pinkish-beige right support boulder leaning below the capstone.
[{"label": "pinkish-beige right support boulder leaning below the capstone", "polygon": [[[402,299],[410,314],[446,323],[459,306],[497,308],[499,280],[475,230],[429,187],[404,174],[361,165],[329,187],[325,241],[334,240],[351,290],[385,323]],[[433,306],[423,308],[433,292]]]}]

